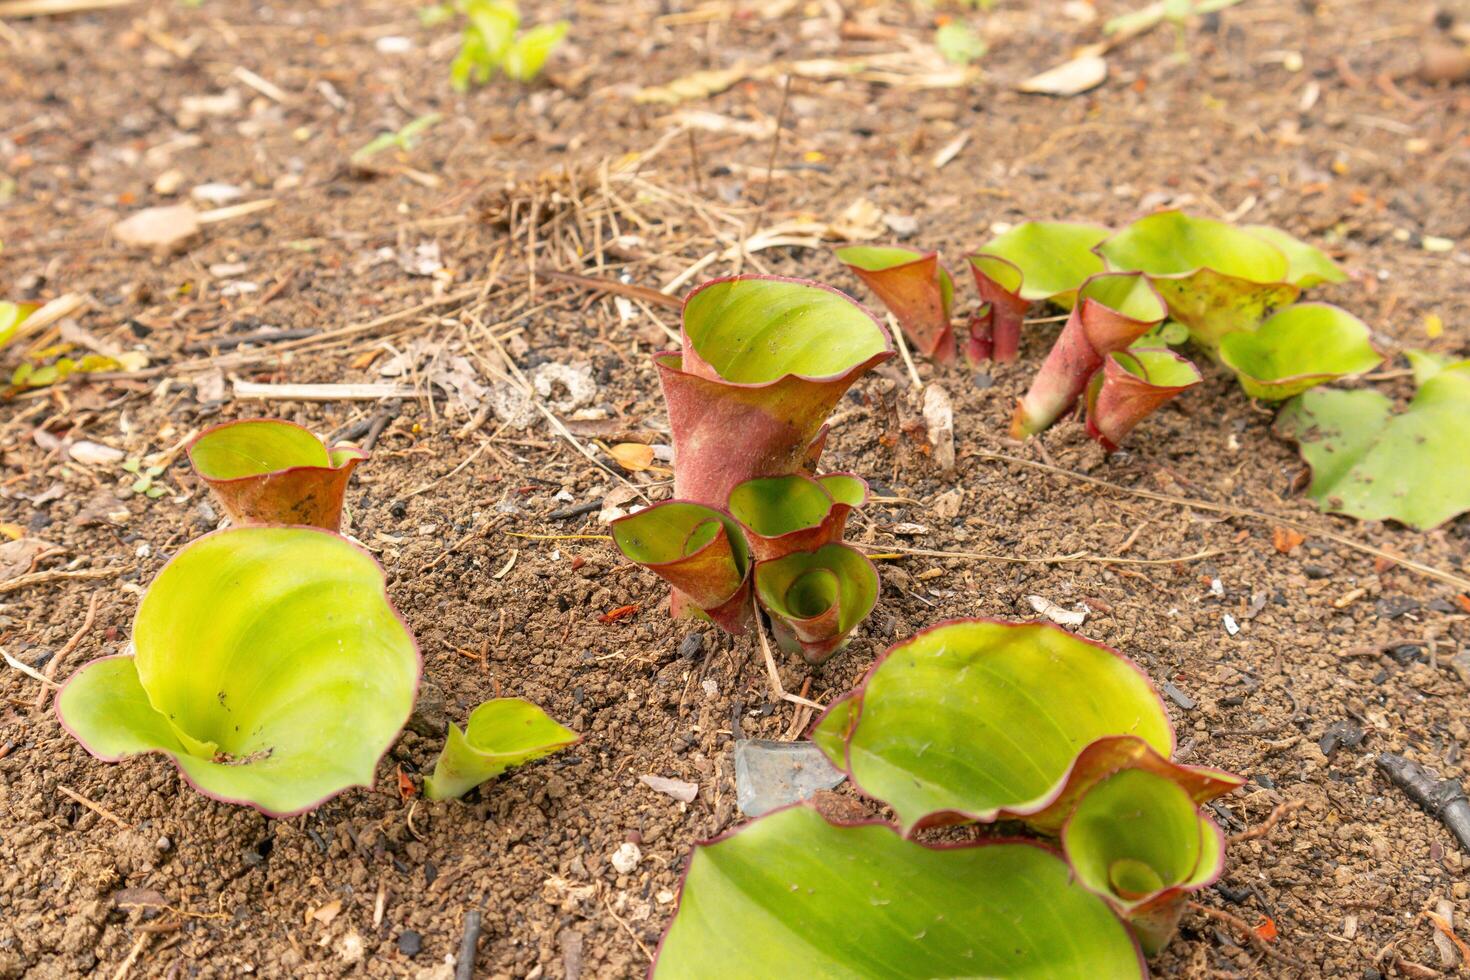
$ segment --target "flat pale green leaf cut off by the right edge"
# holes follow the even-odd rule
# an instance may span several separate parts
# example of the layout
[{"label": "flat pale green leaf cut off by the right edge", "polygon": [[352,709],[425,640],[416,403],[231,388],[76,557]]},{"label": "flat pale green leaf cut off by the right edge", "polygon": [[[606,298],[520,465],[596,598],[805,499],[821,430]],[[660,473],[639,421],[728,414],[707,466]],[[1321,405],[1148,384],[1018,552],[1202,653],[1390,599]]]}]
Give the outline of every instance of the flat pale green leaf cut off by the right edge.
[{"label": "flat pale green leaf cut off by the right edge", "polygon": [[1279,430],[1311,467],[1307,495],[1323,510],[1427,530],[1470,510],[1470,361],[1427,376],[1402,413],[1376,391],[1308,391]]}]

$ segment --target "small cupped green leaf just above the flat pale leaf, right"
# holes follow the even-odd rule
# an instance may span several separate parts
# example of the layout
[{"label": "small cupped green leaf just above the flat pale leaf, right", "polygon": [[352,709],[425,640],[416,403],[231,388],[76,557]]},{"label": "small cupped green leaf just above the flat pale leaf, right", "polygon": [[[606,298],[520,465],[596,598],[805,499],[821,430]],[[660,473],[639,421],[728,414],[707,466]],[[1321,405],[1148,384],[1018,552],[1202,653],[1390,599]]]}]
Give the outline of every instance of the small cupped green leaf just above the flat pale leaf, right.
[{"label": "small cupped green leaf just above the flat pale leaf, right", "polygon": [[1367,323],[1326,303],[1295,303],[1255,331],[1226,334],[1220,363],[1251,398],[1285,401],[1308,388],[1377,367]]}]

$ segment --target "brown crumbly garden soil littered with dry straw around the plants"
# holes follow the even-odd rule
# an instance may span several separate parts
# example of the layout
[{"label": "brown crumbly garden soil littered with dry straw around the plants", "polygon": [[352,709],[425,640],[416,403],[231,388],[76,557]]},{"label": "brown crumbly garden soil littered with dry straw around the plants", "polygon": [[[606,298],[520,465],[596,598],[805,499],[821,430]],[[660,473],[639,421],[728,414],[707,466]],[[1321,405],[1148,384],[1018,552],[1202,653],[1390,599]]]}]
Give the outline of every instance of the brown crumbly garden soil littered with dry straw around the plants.
[{"label": "brown crumbly garden soil littered with dry straw around the plants", "polygon": [[[160,758],[93,760],[35,708],[37,682],[6,669],[0,977],[448,976],[470,909],[484,915],[476,976],[647,968],[691,845],[741,820],[734,739],[797,738],[811,717],[773,699],[750,638],[688,641],[698,630],[670,621],[664,588],[597,538],[595,511],[564,516],[625,476],[667,494],[660,473],[614,479],[534,408],[525,429],[491,400],[473,416],[478,386],[504,391],[504,359],[587,367],[585,404],[567,404],[566,385],[542,400],[582,447],[612,466],[598,442],[667,442],[648,354],[678,311],[554,270],[660,288],[713,253],[686,282],[775,272],[866,301],[813,228],[907,232],[957,267],[997,225],[1116,225],[1180,206],[1323,242],[1352,281],[1320,297],[1367,320],[1385,351],[1470,344],[1470,88],[1414,76],[1423,46],[1470,21],[1463,4],[1436,24],[1427,3],[1245,0],[1188,26],[1186,62],[1161,28],[1119,46],[1107,84],[1072,98],[1011,85],[1098,40],[1126,4],[1098,0],[1092,24],[1085,3],[951,10],[989,43],[960,87],[944,85],[935,12],[917,4],[526,6],[573,22],[547,76],[465,97],[447,84],[453,26],[420,26],[412,3],[159,0],[0,24],[0,295],[85,294],[66,336],[79,326],[84,345],[150,359],[140,375],[0,406],[0,520],[54,545],[38,570],[59,573],[0,585],[0,644],[43,670],[65,655],[57,677],[123,651],[143,588],[218,523],[182,441],[279,414],[323,435],[387,423],[348,492],[350,532],[379,555],[425,658],[419,708],[376,788],[291,820],[206,799]],[[872,63],[798,65],[785,94],[775,71],[676,106],[635,98],[701,69],[811,59]],[[373,157],[372,173],[350,166],[373,135],[431,112],[442,120],[412,150]],[[276,204],[207,225],[169,257],[109,238],[119,217],[212,182]],[[795,244],[738,256],[797,220]],[[1457,244],[1435,251],[1424,237]],[[315,334],[240,345],[269,328]],[[1416,533],[1319,514],[1270,413],[1217,370],[1123,454],[1104,455],[1075,422],[1011,442],[1010,407],[1054,329],[1029,328],[1016,364],[917,366],[954,401],[953,475],[932,458],[901,361],[842,403],[825,464],[881,495],[853,536],[995,558],[883,561],[878,611],[851,648],[819,670],[784,660],[784,685],[826,702],[925,624],[1035,619],[1028,595],[1080,602],[1079,632],[1167,692],[1180,755],[1248,777],[1216,807],[1227,833],[1299,804],[1233,845],[1198,896],[1274,939],[1191,911],[1158,974],[1454,973],[1423,912],[1445,899],[1470,917],[1467,855],[1373,760],[1402,752],[1464,777],[1467,676],[1454,658],[1470,644],[1470,598],[1327,533],[1463,583],[1470,520]],[[410,367],[382,376],[394,363]],[[1407,397],[1401,367],[1373,383]],[[381,400],[248,401],[237,381],[401,381],[415,394],[392,414]],[[132,494],[119,464],[68,458],[79,441],[162,453],[166,494]],[[1280,520],[1317,532],[1283,552]],[[1098,560],[1117,557],[1145,561]],[[497,693],[544,705],[581,743],[463,802],[406,801],[400,785],[420,786],[445,721]],[[1329,729],[1347,738],[1324,741]],[[644,774],[695,782],[698,798],[659,795]],[[829,805],[876,813],[845,788]],[[629,840],[641,862],[620,874],[610,857]]]}]

